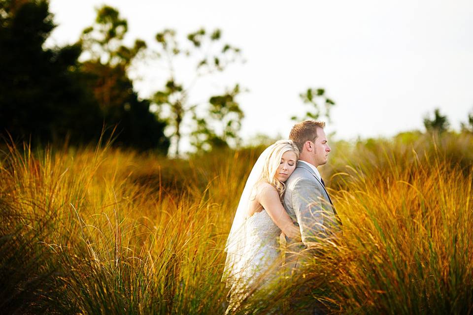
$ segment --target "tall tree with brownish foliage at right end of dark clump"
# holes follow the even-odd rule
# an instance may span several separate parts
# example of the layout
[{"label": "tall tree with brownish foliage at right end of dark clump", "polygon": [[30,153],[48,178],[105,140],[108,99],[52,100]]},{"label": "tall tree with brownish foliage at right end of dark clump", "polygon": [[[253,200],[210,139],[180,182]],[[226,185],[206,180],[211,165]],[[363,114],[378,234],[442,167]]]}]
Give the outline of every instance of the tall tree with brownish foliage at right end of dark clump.
[{"label": "tall tree with brownish foliage at right end of dark clump", "polygon": [[146,49],[136,39],[132,47],[123,44],[128,23],[110,7],[97,10],[95,23],[82,32],[79,44],[84,48],[82,70],[94,91],[107,125],[118,125],[115,144],[138,150],[156,149],[167,154],[169,139],[164,135],[166,122],[149,111],[150,101],[139,100],[128,69]]}]

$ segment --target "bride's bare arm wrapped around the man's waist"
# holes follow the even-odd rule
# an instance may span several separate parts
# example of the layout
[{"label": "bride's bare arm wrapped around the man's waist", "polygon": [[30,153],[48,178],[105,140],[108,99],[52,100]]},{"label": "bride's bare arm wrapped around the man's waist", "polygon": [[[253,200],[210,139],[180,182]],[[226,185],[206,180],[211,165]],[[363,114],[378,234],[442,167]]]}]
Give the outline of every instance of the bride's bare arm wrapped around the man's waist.
[{"label": "bride's bare arm wrapped around the man's waist", "polygon": [[257,195],[258,202],[263,206],[271,220],[286,234],[289,238],[301,238],[299,227],[294,225],[286,210],[279,200],[279,194],[269,184],[263,187]]}]

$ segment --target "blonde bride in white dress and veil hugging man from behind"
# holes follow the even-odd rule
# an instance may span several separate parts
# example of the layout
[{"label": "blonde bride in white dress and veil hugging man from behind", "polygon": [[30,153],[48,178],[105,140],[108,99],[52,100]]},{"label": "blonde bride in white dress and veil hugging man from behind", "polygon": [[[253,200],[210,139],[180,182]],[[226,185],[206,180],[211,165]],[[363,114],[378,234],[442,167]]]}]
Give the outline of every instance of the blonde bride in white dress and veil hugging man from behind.
[{"label": "blonde bride in white dress and veil hugging man from behind", "polygon": [[[278,265],[281,231],[300,238],[299,227],[284,210],[284,182],[296,168],[299,150],[291,140],[279,140],[258,158],[246,181],[236,208],[225,252],[222,281],[230,287],[226,314],[235,311],[250,292],[269,284]],[[276,268],[277,268],[276,267]]]}]

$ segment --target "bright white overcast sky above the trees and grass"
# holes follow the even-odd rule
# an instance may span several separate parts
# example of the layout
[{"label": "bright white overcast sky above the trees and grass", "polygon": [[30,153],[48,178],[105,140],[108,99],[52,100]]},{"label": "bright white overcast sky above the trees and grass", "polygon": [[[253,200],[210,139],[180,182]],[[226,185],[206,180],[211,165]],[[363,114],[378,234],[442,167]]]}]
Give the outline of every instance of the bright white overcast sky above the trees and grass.
[{"label": "bright white overcast sky above the trees and grass", "polygon": [[[128,20],[130,43],[139,37],[151,44],[165,28],[185,35],[204,27],[220,28],[224,41],[241,48],[246,63],[193,93],[197,100],[206,89],[247,88],[237,99],[245,139],[287,137],[290,117],[304,113],[299,94],[308,87],[323,87],[336,101],[327,131],[337,139],[423,129],[435,107],[458,130],[473,110],[471,0],[50,0],[59,26],[49,44],[75,42],[103,3]],[[166,78],[158,66],[138,72],[142,97]]]}]

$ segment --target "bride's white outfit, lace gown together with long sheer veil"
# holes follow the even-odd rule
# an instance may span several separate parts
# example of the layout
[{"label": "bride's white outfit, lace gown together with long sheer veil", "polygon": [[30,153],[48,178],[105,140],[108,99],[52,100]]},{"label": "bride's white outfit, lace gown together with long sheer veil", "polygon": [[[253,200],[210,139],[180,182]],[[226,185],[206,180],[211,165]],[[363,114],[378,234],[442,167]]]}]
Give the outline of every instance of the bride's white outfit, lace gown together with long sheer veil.
[{"label": "bride's white outfit, lace gown together with long sheer veil", "polygon": [[241,302],[251,299],[258,290],[267,289],[280,275],[281,230],[264,209],[246,218],[251,192],[260,179],[270,151],[271,146],[260,155],[248,176],[225,244],[227,259],[222,281],[230,288],[226,314],[239,309]]}]

